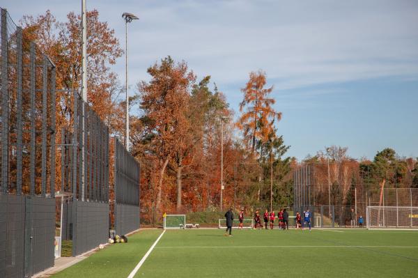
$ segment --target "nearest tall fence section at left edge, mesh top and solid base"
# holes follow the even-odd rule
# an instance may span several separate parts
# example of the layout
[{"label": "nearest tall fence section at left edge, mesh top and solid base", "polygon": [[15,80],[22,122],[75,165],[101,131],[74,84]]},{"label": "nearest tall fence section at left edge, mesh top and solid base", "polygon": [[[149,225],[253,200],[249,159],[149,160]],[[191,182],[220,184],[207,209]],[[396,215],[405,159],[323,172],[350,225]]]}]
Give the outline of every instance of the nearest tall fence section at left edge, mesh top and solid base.
[{"label": "nearest tall fence section at left edge, mesh top and solid base", "polygon": [[0,277],[31,277],[54,265],[55,66],[0,22]]}]

